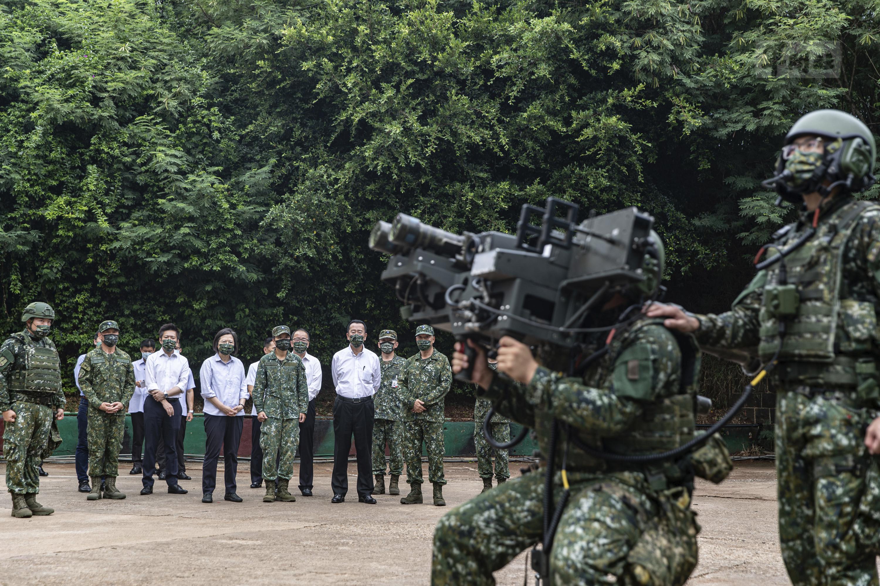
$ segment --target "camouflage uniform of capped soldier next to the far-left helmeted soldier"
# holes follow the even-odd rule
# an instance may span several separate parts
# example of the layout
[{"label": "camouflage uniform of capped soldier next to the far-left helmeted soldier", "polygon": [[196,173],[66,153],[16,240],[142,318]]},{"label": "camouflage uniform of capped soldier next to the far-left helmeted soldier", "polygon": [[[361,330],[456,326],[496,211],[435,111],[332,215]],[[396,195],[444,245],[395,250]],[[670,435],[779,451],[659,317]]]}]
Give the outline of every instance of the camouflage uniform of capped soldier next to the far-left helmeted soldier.
[{"label": "camouflage uniform of capped soldier next to the far-left helmeted soldier", "polygon": [[[125,435],[125,412],[135,393],[135,369],[128,354],[117,348],[107,354],[89,351],[79,369],[79,387],[89,402],[87,444],[89,476],[118,476],[119,452]],[[121,402],[125,409],[107,413],[101,403]]]}]

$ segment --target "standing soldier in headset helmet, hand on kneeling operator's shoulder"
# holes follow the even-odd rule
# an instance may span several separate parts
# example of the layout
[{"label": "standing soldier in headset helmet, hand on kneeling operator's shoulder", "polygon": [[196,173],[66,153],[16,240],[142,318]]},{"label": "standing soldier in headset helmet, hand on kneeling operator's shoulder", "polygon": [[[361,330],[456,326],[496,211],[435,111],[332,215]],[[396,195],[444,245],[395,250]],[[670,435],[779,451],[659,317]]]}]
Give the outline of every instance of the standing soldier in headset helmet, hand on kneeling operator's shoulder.
[{"label": "standing soldier in headset helmet, hand on kneeling operator's shoulder", "polygon": [[880,407],[880,206],[852,196],[873,183],[875,156],[868,127],[845,112],[798,119],[766,184],[800,214],[761,250],[752,283],[722,315],[649,311],[707,351],[767,366],[780,546],[797,586],[878,583],[880,473],[864,429]]}]

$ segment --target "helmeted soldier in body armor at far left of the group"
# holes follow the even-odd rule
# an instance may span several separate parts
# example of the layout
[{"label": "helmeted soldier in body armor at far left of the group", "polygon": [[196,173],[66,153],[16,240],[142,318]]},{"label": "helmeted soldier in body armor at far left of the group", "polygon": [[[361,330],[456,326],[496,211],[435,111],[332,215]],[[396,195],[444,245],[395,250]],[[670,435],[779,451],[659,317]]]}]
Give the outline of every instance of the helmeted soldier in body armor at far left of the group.
[{"label": "helmeted soldier in body armor at far left of the group", "polygon": [[55,419],[64,417],[61,363],[48,339],[55,311],[46,303],[25,308],[24,331],[0,345],[0,410],[5,429],[6,488],[12,495],[12,517],[51,515],[37,503],[38,468]]}]

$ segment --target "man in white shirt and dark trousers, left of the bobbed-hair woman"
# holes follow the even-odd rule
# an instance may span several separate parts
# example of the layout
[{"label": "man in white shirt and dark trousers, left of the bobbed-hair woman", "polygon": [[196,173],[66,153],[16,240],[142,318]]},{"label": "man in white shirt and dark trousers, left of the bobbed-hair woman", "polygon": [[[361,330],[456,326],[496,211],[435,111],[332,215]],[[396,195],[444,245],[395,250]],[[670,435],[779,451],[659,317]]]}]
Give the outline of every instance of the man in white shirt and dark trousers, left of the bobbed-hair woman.
[{"label": "man in white shirt and dark trousers, left of the bobbed-hair woman", "polygon": [[174,350],[180,329],[173,323],[159,328],[159,344],[162,350],[147,358],[147,393],[150,397],[143,403],[143,489],[142,495],[153,492],[153,474],[156,472],[156,448],[161,436],[165,440],[165,482],[171,495],[186,495],[187,490],[177,483],[177,433],[183,410],[180,398],[189,380],[189,362]]}]

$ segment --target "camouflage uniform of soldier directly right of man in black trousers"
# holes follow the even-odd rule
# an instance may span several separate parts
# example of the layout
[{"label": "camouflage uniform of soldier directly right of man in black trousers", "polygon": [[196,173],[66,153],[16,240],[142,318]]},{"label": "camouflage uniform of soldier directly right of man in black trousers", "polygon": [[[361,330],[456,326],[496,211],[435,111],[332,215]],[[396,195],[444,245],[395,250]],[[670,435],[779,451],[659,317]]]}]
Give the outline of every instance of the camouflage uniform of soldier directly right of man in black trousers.
[{"label": "camouflage uniform of soldier directly right of man in black trousers", "polygon": [[407,359],[394,356],[391,360],[379,358],[382,386],[373,395],[376,416],[373,419],[373,474],[385,474],[385,444],[391,461],[391,474],[403,472],[403,422],[400,410],[402,398],[407,396]]}]

